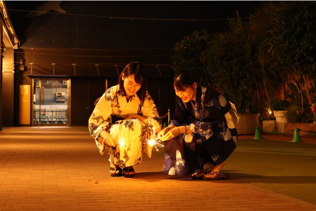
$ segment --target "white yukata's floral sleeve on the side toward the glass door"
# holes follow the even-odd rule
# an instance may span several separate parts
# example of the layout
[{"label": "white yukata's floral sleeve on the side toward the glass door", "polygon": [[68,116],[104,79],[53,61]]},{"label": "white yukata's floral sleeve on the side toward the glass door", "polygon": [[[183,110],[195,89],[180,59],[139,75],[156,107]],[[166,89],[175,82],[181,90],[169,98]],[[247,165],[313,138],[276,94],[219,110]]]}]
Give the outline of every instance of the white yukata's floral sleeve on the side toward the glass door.
[{"label": "white yukata's floral sleeve on the side toward the glass door", "polygon": [[95,141],[99,141],[101,132],[105,130],[106,126],[110,123],[114,106],[113,101],[113,93],[106,91],[89,118],[89,132]]}]

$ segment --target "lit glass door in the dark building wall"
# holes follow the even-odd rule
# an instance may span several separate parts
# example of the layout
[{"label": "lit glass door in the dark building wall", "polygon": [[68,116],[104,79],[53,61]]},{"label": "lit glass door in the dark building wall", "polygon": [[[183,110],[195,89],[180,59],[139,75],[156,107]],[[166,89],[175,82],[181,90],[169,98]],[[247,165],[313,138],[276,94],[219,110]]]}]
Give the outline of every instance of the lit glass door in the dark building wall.
[{"label": "lit glass door in the dark building wall", "polygon": [[69,79],[33,79],[33,125],[68,125]]}]

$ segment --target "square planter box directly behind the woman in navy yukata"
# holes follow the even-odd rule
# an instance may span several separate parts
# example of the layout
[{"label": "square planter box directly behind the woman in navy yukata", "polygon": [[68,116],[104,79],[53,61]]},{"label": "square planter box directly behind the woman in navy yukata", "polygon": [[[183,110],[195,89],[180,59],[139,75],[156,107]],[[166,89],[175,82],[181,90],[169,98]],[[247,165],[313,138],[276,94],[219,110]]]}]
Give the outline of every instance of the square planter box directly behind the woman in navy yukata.
[{"label": "square planter box directly behind the woman in navy yukata", "polygon": [[238,135],[254,135],[256,127],[259,127],[258,114],[238,114],[240,117],[236,126]]}]

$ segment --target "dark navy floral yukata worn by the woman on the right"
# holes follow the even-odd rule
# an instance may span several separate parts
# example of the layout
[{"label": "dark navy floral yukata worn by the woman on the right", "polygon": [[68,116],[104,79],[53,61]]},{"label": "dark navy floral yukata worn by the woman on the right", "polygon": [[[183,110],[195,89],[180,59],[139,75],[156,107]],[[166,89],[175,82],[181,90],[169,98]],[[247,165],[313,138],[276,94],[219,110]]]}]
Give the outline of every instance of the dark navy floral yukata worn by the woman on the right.
[{"label": "dark navy floral yukata worn by the woman on the right", "polygon": [[[169,123],[169,125],[176,126],[188,125],[195,135],[183,136],[180,134],[178,137],[182,138],[177,146],[175,146],[175,142],[169,144],[170,146],[166,144],[168,147],[165,145],[165,158],[176,157],[178,159],[171,148],[178,148],[178,145],[183,145],[184,150],[180,155],[183,162],[192,165],[198,160],[198,166],[187,166],[185,171],[188,172],[182,172],[182,175],[190,174],[196,170],[194,168],[202,168],[206,163],[211,163],[211,165],[222,163],[233,152],[237,144],[237,130],[235,128],[233,128],[235,130],[229,129],[225,118],[225,114],[231,108],[230,102],[215,89],[200,86],[197,86],[195,99],[195,102],[191,100],[184,103],[179,98],[176,103],[174,118]],[[236,131],[236,133],[231,134],[232,131]],[[175,163],[175,161],[170,162],[167,159],[165,161]],[[168,174],[172,174],[170,169],[165,168],[163,171],[169,171]]]}]

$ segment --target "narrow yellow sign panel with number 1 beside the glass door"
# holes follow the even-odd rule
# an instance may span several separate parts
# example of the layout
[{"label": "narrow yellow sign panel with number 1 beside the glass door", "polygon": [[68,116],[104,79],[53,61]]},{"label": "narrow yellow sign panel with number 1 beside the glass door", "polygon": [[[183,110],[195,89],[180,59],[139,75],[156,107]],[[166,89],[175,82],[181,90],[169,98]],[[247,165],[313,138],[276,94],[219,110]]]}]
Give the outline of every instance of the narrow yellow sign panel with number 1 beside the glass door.
[{"label": "narrow yellow sign panel with number 1 beside the glass door", "polygon": [[31,85],[20,85],[20,124],[31,124]]}]

